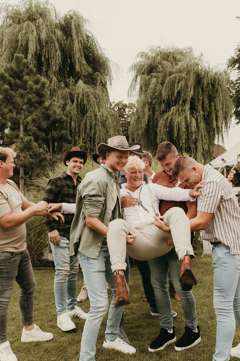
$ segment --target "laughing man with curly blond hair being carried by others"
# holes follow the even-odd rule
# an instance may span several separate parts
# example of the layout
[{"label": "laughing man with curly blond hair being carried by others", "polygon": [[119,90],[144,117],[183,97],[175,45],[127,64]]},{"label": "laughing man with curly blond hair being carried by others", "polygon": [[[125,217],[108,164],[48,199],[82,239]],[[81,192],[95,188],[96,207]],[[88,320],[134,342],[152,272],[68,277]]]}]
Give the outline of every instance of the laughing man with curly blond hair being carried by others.
[{"label": "laughing man with curly blond hair being carried by others", "polygon": [[[164,215],[164,222],[155,215],[158,211],[159,199],[166,200],[192,200],[200,193],[194,190],[183,190],[180,188],[166,188],[158,184],[148,186],[143,179],[144,163],[137,157],[131,157],[125,166],[125,177],[127,183],[123,184],[123,193],[139,198],[139,204],[135,207],[124,208],[126,221],[115,219],[110,222],[107,234],[110,261],[114,274],[124,275],[126,269],[126,252],[140,261],[150,260],[169,252],[172,246],[164,242],[165,238],[172,238],[175,243],[176,252],[181,260],[180,282],[182,287],[191,288],[196,284],[196,278],[191,269],[191,258],[194,257],[190,240],[190,220],[181,208],[172,208]],[[152,199],[151,199],[152,197]],[[154,225],[154,218],[166,227],[167,231],[158,230]],[[132,230],[136,235],[135,240],[128,240],[128,234]],[[127,239],[127,242],[126,242]],[[116,284],[115,307],[128,304],[129,298],[126,288],[118,287]],[[120,285],[121,286],[121,285]]]}]

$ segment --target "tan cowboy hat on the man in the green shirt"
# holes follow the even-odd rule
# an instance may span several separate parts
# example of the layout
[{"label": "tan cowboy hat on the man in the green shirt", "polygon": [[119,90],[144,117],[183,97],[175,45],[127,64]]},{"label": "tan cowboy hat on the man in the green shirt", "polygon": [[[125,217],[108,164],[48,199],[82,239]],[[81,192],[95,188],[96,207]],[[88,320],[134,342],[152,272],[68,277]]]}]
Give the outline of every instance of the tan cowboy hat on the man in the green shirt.
[{"label": "tan cowboy hat on the man in the green shirt", "polygon": [[135,149],[139,149],[139,147],[139,145],[129,147],[126,136],[116,135],[108,139],[108,144],[100,143],[98,145],[97,152],[101,157],[106,158],[106,153],[108,151],[112,151],[114,149],[117,151],[133,151]]}]

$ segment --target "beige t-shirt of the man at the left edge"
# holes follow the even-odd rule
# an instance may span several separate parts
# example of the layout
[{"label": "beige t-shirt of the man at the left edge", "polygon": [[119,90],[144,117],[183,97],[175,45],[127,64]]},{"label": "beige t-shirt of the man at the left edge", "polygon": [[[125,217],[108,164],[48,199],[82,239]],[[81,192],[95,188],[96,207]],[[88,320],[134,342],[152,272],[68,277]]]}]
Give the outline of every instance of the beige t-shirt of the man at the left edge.
[{"label": "beige t-shirt of the man at the left edge", "polygon": [[[0,184],[0,217],[5,214],[22,212],[22,203],[26,198],[19,191],[17,184],[7,179],[6,184]],[[25,251],[26,226],[6,229],[0,225],[0,252],[20,253]]]}]

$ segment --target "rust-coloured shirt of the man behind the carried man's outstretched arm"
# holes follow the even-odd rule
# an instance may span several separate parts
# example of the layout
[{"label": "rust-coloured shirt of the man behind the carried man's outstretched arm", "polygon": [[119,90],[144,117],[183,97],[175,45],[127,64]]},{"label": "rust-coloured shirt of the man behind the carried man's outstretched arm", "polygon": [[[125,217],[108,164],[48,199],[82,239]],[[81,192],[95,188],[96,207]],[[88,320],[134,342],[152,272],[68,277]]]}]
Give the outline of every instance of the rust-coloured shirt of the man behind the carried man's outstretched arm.
[{"label": "rust-coloured shirt of the man behind the carried man's outstretched arm", "polygon": [[[160,184],[161,186],[168,187],[168,188],[175,188],[176,184],[180,188],[183,189],[192,189],[193,186],[187,186],[185,182],[180,182],[178,179],[174,178],[173,175],[169,175],[166,173],[165,170],[159,170],[153,177],[153,183]],[[160,215],[163,216],[164,213],[167,212],[168,209],[172,207],[180,207],[187,213],[187,204],[185,201],[176,202],[176,201],[164,201],[160,200],[159,202],[159,212]]]}]

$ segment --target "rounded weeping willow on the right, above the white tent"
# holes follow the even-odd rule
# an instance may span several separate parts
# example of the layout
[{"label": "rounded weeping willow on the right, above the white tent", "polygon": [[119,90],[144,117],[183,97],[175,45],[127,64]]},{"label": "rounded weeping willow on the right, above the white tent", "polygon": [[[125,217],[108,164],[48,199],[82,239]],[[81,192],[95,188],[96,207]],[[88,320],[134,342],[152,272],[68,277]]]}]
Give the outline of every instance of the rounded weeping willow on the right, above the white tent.
[{"label": "rounded weeping willow on the right, above the white tent", "polygon": [[227,71],[210,68],[191,48],[153,47],[131,66],[129,95],[137,95],[130,137],[156,148],[169,141],[179,152],[207,161],[232,115]]}]

